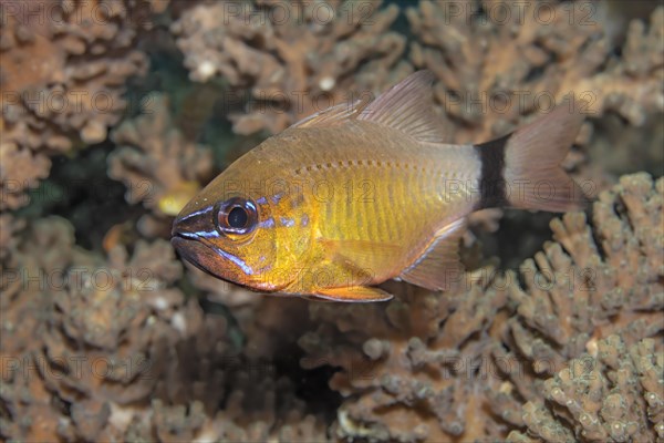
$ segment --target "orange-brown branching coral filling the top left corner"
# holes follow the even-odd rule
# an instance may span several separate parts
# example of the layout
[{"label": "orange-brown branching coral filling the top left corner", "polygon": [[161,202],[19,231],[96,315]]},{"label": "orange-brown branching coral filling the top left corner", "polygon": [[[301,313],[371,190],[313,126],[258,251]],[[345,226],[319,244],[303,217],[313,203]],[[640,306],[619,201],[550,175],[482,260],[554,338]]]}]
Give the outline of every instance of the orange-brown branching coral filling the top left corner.
[{"label": "orange-brown branching coral filling the top left corner", "polygon": [[[162,0],[0,3],[0,95],[3,197],[0,208],[25,204],[50,164],[77,141],[98,143],[126,107],[125,82],[147,59],[133,49]],[[9,145],[6,146],[6,145]],[[30,153],[30,151],[32,153]],[[11,153],[17,153],[10,155]],[[31,162],[27,169],[28,162]],[[34,171],[23,175],[24,171]],[[7,202],[7,184],[15,194]],[[21,186],[15,187],[19,183]]]}]

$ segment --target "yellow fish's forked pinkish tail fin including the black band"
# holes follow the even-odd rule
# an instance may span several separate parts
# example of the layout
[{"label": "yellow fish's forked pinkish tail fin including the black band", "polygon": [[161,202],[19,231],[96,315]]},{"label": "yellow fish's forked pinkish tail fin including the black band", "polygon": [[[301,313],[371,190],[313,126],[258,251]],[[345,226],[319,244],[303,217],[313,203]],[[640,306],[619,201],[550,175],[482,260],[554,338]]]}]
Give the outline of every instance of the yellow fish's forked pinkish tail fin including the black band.
[{"label": "yellow fish's forked pinkish tail fin including the black band", "polygon": [[477,145],[483,163],[481,207],[568,212],[588,199],[562,169],[583,123],[580,103],[557,106],[513,133]]}]

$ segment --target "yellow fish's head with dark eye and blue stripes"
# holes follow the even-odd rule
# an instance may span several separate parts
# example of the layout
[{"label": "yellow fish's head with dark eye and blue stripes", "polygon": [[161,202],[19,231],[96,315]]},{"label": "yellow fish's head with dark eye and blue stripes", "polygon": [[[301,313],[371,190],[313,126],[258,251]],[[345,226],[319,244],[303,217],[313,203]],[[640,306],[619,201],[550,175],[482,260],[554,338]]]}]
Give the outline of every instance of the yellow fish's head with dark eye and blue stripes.
[{"label": "yellow fish's head with dark eye and blue stripes", "polygon": [[278,291],[297,278],[308,247],[308,226],[288,222],[304,209],[277,178],[247,174],[234,164],[206,186],[176,217],[170,241],[183,258],[217,278]]}]

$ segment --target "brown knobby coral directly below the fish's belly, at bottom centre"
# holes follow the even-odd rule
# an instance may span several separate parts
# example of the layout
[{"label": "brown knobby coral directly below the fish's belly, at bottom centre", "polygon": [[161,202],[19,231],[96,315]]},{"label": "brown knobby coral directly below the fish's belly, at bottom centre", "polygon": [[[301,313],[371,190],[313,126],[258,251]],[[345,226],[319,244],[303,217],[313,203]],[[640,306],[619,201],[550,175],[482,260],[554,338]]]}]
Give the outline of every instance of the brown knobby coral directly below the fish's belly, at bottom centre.
[{"label": "brown knobby coral directly below the fish's belly, at bottom centre", "polygon": [[491,274],[468,275],[455,293],[402,288],[387,307],[311,306],[321,326],[300,340],[302,364],[341,368],[330,381],[346,398],[339,437],[475,441],[504,433],[483,408],[495,346],[488,334],[506,301],[502,280]]}]

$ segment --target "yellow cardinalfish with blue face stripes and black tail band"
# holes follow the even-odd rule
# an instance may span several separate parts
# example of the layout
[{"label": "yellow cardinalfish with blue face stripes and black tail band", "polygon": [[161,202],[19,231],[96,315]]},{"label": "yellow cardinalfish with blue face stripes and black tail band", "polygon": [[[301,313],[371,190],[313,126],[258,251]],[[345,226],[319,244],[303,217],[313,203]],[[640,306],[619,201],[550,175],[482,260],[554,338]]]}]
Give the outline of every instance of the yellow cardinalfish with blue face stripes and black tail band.
[{"label": "yellow cardinalfish with blue face stripes and black tail band", "polygon": [[332,106],[237,159],[179,213],[172,243],[257,291],[380,301],[388,279],[440,290],[467,216],[564,212],[585,197],[560,163],[583,122],[571,100],[511,134],[452,145],[418,71],[373,102]]}]

